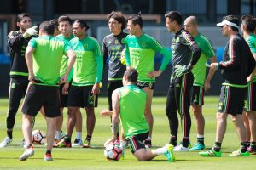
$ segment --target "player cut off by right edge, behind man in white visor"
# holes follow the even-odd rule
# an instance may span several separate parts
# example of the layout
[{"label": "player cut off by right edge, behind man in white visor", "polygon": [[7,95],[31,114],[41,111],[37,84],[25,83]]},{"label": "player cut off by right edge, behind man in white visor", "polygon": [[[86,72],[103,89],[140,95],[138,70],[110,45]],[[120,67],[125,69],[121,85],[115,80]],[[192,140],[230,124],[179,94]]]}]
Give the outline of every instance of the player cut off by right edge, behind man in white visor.
[{"label": "player cut off by right edge, behind man in white visor", "polygon": [[[253,16],[243,15],[241,16],[241,32],[243,37],[247,41],[253,57],[256,60],[256,36],[253,33],[256,26],[256,20]],[[247,130],[247,143],[250,145],[248,151],[251,153],[256,153],[256,68],[254,68],[253,73],[247,77],[248,87],[247,95],[245,99],[245,114],[243,114],[244,124]],[[253,76],[254,75],[254,76]],[[247,122],[247,123],[246,123]],[[251,139],[251,143],[250,143]]]}]

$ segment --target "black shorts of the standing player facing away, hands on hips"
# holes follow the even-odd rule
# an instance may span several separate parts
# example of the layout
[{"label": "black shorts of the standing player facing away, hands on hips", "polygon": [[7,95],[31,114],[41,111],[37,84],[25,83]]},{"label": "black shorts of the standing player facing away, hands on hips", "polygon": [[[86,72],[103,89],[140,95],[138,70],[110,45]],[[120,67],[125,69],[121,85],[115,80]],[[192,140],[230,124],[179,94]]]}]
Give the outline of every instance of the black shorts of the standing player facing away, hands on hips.
[{"label": "black shorts of the standing player facing away, hands on hips", "polygon": [[21,111],[29,116],[37,116],[44,106],[46,117],[61,116],[59,87],[29,84]]}]

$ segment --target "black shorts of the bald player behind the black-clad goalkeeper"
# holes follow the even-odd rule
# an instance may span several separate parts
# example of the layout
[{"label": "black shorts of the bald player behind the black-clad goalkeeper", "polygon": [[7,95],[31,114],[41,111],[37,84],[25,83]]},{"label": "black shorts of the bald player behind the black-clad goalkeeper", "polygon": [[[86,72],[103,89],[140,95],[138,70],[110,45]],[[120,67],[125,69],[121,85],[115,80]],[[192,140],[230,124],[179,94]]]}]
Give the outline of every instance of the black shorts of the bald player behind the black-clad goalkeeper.
[{"label": "black shorts of the bald player behind the black-clad goalkeeper", "polygon": [[191,105],[204,105],[204,88],[193,86],[191,88]]}]

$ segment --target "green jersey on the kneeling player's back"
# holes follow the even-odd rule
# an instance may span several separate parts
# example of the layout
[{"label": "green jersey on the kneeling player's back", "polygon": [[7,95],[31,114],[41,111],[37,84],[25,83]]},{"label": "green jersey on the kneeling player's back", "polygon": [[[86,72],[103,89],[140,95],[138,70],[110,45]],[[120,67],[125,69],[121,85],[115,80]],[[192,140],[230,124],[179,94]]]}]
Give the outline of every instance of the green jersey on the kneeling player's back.
[{"label": "green jersey on the kneeling player's back", "polygon": [[125,138],[148,133],[148,122],[144,116],[147,94],[135,85],[127,85],[119,90],[119,117]]}]

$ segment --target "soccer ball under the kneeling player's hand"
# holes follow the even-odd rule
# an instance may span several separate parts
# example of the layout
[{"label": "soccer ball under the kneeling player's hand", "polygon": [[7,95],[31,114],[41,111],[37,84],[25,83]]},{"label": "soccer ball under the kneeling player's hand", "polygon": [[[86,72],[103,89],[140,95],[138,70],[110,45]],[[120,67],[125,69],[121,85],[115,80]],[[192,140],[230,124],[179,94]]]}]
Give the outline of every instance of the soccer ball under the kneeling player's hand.
[{"label": "soccer ball under the kneeling player's hand", "polygon": [[104,156],[108,160],[119,161],[122,156],[122,148],[119,144],[108,144],[104,150]]}]

